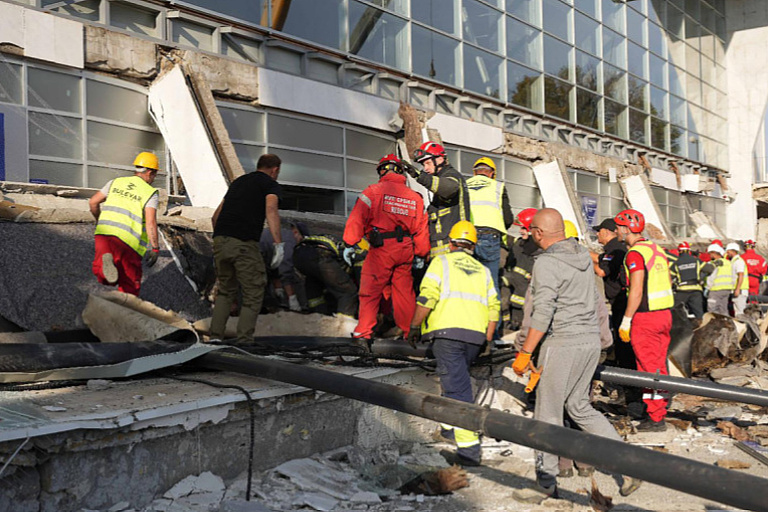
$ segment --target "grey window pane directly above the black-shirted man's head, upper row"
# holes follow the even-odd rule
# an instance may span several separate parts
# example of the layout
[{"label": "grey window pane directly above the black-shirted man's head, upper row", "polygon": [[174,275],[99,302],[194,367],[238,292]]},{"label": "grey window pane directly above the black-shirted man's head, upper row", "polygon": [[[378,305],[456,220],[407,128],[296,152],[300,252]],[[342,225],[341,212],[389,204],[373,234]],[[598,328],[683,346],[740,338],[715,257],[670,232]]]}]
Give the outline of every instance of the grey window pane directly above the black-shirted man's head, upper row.
[{"label": "grey window pane directly above the black-shirted man's head, upper row", "polygon": [[342,153],[342,130],[338,126],[277,115],[269,115],[267,123],[270,144]]}]

